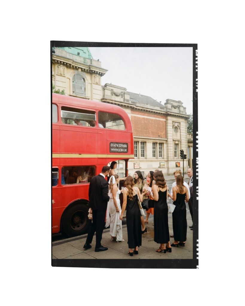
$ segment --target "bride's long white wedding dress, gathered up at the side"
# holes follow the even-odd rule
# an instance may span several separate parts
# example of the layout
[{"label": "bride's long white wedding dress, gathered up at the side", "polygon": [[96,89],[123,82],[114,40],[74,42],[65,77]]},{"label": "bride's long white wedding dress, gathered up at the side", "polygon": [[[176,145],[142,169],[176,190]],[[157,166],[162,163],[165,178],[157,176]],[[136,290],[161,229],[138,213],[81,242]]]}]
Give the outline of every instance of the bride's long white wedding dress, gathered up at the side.
[{"label": "bride's long white wedding dress, gathered up at the side", "polygon": [[[123,229],[122,229],[122,220],[120,220],[120,215],[122,213],[119,194],[120,190],[116,193],[116,201],[117,207],[119,208],[119,212],[116,211],[116,207],[113,199],[110,199],[107,203],[107,211],[106,211],[106,225],[105,227],[110,226],[110,234],[112,237],[116,237],[116,241],[123,240]],[[108,193],[108,196],[111,195],[111,190]]]}]

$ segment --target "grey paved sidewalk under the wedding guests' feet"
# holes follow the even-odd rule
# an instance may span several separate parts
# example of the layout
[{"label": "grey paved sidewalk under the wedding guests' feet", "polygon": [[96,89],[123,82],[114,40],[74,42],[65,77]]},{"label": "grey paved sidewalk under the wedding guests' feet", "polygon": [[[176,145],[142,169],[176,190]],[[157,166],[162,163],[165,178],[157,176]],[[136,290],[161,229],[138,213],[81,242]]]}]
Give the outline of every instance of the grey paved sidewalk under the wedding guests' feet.
[{"label": "grey paved sidewalk under the wedding guests' feet", "polygon": [[[84,250],[87,234],[78,237],[71,237],[52,243],[52,259],[192,259],[193,258],[193,231],[189,226],[192,225],[190,211],[187,210],[187,241],[184,247],[172,248],[172,252],[157,253],[159,247],[154,241],[153,217],[150,215],[149,224],[146,225],[147,233],[142,235],[142,246],[139,248],[139,254],[129,256],[127,244],[127,228],[123,225],[124,242],[111,241],[110,230],[105,229],[102,235],[101,244],[108,248],[104,252],[95,252],[95,235],[92,241],[92,248]],[[170,235],[172,230],[172,215],[168,214],[168,226]],[[170,238],[170,243],[173,238]]]}]

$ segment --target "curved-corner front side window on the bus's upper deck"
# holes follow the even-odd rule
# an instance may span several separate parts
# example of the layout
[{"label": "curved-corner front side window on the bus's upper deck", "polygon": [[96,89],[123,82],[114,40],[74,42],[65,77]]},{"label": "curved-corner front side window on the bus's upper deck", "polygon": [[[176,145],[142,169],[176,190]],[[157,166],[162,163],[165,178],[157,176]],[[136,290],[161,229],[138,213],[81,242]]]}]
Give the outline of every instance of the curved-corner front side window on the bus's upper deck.
[{"label": "curved-corner front side window on the bus's upper deck", "polygon": [[123,118],[118,114],[99,112],[99,127],[106,129],[125,130]]}]

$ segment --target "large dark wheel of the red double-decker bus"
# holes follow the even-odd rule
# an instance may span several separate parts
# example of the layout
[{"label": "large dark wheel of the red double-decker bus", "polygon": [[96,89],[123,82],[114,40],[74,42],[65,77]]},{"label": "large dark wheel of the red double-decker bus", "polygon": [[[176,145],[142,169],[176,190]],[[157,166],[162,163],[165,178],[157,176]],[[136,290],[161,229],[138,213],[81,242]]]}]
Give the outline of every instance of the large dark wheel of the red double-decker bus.
[{"label": "large dark wheel of the red double-decker bus", "polygon": [[79,236],[87,233],[89,227],[89,207],[85,204],[72,205],[63,217],[63,229],[67,236]]}]

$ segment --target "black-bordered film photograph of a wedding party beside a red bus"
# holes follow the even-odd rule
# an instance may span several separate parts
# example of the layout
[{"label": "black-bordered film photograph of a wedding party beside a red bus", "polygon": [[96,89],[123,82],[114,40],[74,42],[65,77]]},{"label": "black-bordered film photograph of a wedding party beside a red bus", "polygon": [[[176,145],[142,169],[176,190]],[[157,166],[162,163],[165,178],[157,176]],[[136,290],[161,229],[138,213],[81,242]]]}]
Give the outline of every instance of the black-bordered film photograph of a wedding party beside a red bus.
[{"label": "black-bordered film photograph of a wedding party beside a red bus", "polygon": [[51,41],[52,266],[198,266],[197,44]]}]

